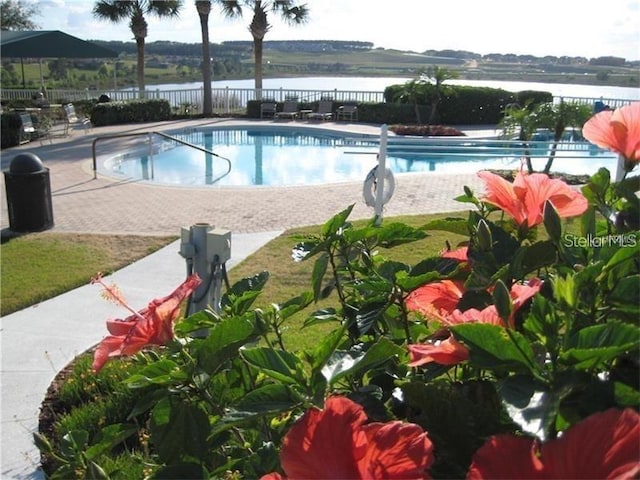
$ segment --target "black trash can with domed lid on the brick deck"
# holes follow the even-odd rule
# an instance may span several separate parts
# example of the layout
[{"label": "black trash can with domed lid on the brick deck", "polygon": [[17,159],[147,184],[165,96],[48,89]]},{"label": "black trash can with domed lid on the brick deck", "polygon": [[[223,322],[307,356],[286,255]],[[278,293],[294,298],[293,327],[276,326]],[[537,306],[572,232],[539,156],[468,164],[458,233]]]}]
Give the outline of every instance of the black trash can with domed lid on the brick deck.
[{"label": "black trash can with domed lid on the brick deck", "polygon": [[49,169],[33,153],[16,155],[4,172],[9,228],[40,232],[53,227]]}]

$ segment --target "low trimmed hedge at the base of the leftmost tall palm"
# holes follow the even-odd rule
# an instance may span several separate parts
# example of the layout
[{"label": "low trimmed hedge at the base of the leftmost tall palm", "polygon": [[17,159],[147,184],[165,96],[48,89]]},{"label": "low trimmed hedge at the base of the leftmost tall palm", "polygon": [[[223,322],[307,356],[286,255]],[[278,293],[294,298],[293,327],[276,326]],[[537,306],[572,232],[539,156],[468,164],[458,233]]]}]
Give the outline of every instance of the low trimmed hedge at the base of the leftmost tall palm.
[{"label": "low trimmed hedge at the base of the leftmost tall palm", "polygon": [[167,100],[98,103],[91,111],[91,123],[96,127],[170,119],[171,105]]}]

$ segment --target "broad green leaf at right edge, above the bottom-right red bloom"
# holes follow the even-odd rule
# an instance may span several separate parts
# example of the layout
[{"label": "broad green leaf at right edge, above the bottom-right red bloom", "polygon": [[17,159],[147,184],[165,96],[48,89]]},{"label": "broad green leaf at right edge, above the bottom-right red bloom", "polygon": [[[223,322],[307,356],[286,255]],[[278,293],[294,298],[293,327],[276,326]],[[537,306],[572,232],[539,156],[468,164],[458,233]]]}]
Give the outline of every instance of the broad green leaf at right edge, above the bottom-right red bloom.
[{"label": "broad green leaf at right edge, above the bottom-right red bloom", "polygon": [[640,328],[611,322],[581,329],[569,339],[560,360],[578,369],[592,369],[640,347]]}]

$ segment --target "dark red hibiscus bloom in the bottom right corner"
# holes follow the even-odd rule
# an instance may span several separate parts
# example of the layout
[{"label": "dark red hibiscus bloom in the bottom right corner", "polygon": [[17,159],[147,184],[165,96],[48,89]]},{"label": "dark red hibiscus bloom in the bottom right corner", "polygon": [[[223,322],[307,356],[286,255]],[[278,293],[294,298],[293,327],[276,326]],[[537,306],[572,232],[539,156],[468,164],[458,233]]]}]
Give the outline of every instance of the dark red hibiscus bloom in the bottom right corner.
[{"label": "dark red hibiscus bloom in the bottom right corner", "polygon": [[491,437],[474,455],[468,479],[631,479],[640,474],[640,415],[607,410],[540,445],[514,435]]}]

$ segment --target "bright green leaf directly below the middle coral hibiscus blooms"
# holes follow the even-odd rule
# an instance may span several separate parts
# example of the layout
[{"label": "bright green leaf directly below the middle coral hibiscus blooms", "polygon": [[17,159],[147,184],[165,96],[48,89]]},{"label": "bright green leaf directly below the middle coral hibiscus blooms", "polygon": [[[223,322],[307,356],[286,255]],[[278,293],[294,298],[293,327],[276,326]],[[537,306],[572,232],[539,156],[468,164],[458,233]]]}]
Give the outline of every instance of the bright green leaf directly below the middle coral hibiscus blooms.
[{"label": "bright green leaf directly below the middle coral hibiscus blooms", "polygon": [[515,330],[497,325],[468,323],[451,327],[457,340],[469,348],[471,363],[479,368],[535,370],[529,341]]}]

